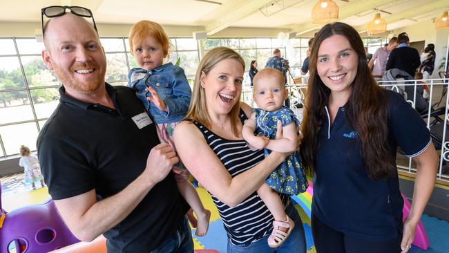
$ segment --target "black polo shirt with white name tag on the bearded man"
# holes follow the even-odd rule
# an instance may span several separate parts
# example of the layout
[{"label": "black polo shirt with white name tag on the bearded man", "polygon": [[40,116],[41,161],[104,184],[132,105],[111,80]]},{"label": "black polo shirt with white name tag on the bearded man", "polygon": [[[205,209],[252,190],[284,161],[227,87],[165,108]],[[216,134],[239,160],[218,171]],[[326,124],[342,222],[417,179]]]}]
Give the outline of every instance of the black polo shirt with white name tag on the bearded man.
[{"label": "black polo shirt with white name tag on the bearded man", "polygon": [[[160,143],[131,88],[106,84],[106,91],[116,110],[75,100],[64,86],[59,89],[59,105],[37,140],[41,170],[55,200],[92,189],[99,200],[117,194],[142,174],[150,150]],[[108,252],[150,252],[175,232],[187,208],[169,174],[104,234]]]}]

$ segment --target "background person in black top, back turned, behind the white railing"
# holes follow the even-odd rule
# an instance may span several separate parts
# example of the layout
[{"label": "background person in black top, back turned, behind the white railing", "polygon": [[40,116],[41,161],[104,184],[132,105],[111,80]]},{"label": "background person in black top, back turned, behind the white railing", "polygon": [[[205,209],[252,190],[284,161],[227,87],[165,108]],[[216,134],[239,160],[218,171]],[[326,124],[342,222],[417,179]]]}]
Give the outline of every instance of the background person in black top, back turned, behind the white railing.
[{"label": "background person in black top, back turned, behind the white railing", "polygon": [[418,50],[409,46],[410,39],[405,32],[398,35],[398,44],[388,57],[386,71],[391,68],[399,68],[401,71],[407,72],[410,77],[414,77],[415,71],[421,65]]}]

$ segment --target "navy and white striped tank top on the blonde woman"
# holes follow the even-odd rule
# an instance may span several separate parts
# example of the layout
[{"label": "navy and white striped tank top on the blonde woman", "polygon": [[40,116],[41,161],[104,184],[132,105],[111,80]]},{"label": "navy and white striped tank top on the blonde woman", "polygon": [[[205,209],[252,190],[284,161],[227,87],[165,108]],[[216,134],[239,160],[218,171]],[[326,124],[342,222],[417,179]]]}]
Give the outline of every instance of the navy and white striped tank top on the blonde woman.
[{"label": "navy and white striped tank top on the blonde woman", "polygon": [[[242,122],[247,120],[242,110],[240,110],[240,120]],[[251,169],[264,159],[263,150],[251,151],[245,140],[227,140],[216,135],[200,122],[194,121],[193,124],[200,129],[207,143],[232,177]],[[256,191],[236,207],[229,207],[213,194],[211,197],[218,208],[228,237],[234,245],[253,243],[271,232],[274,218]],[[280,198],[285,207],[289,196],[280,194]]]}]

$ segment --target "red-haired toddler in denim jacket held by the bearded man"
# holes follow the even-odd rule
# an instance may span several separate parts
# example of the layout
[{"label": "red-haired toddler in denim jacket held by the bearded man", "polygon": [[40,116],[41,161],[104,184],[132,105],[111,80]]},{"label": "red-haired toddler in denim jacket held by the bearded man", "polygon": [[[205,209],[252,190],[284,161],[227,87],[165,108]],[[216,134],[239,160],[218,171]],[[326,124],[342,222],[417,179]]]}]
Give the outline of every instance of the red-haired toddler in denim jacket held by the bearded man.
[{"label": "red-haired toddler in denim jacket held by the bearded man", "polygon": [[[170,144],[173,151],[173,131],[189,109],[191,89],[184,70],[171,62],[163,64],[169,53],[169,37],[162,27],[153,21],[139,21],[129,32],[129,46],[137,64],[128,73],[128,87],[135,90],[146,111],[156,123],[157,135],[162,143]],[[177,172],[185,169],[180,161],[173,166]],[[187,180],[177,180],[180,193],[195,212],[198,223],[192,221],[197,236],[204,236],[209,227],[211,212],[204,209],[198,193]],[[195,224],[196,223],[196,224]]]}]

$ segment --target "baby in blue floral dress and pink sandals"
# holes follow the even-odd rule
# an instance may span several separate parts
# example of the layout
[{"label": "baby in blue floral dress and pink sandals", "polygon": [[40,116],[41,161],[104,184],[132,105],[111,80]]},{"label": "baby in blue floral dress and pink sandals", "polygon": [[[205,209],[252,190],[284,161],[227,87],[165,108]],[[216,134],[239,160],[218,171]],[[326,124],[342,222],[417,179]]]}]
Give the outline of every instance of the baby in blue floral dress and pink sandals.
[{"label": "baby in blue floral dress and pink sandals", "polygon": [[[283,107],[283,102],[287,98],[283,74],[275,68],[264,68],[256,74],[253,81],[253,97],[259,108],[254,109],[254,113],[243,125],[243,138],[256,149],[265,148],[265,156],[270,151],[294,151],[298,144],[296,127],[299,120],[292,110]],[[283,125],[283,138],[275,140],[278,120]],[[294,222],[285,214],[280,196],[274,191],[296,195],[304,192],[307,186],[299,152],[295,151],[257,190],[274,216],[274,229],[268,238],[270,247],[281,245],[294,227]]]}]

